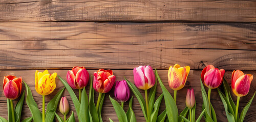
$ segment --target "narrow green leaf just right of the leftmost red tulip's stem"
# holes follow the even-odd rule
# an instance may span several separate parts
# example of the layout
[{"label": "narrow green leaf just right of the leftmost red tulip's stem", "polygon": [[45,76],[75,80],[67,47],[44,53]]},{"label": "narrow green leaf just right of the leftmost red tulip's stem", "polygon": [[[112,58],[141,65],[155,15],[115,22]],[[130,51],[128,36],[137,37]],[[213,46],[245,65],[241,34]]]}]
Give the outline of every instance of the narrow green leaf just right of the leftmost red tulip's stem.
[{"label": "narrow green leaf just right of the leftmost red tulip's stem", "polygon": [[17,102],[14,110],[15,110],[15,121],[19,122],[20,121],[20,115],[22,114],[22,107],[24,103],[24,98],[25,98],[25,92],[23,92],[22,97],[20,97],[19,101]]}]

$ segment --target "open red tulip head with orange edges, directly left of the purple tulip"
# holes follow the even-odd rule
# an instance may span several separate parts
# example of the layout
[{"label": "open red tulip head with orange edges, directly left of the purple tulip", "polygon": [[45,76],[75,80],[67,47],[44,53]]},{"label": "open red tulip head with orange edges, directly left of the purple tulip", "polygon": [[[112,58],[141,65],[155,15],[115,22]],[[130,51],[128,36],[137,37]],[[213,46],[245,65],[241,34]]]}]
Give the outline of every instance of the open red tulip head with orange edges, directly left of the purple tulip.
[{"label": "open red tulip head with orange edges, directly left of the purple tulip", "polygon": [[116,76],[112,70],[99,69],[94,72],[93,88],[99,93],[108,93],[115,83]]}]

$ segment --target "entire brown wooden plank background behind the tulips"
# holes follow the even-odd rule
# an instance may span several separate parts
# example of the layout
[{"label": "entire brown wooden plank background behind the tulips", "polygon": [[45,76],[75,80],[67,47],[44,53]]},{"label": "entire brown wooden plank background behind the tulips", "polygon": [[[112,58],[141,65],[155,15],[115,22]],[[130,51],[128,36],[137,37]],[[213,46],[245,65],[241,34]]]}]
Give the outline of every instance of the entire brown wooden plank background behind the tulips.
[{"label": "entire brown wooden plank background behind the tulips", "polygon": [[[199,76],[205,66],[225,69],[229,83],[232,70],[256,76],[255,22],[254,0],[0,0],[0,77],[22,76],[41,110],[41,96],[34,88],[35,70],[48,69],[66,79],[74,66],[86,67],[90,75],[100,68],[113,69],[116,80],[125,76],[133,82],[132,69],[150,65],[158,69],[173,95],[167,69],[180,64],[190,66],[191,71],[185,87],[178,91],[179,112],[185,107],[187,88],[194,88],[198,116],[202,105]],[[58,78],[56,82],[47,102],[63,87]],[[0,90],[0,116],[8,118],[6,98]],[[240,112],[255,90],[256,78],[249,94],[241,98]],[[160,94],[158,85],[157,96]],[[63,95],[75,111],[67,90]],[[102,117],[118,121],[109,95],[114,97],[114,88],[106,94]],[[218,121],[227,121],[217,90],[211,95]],[[127,110],[127,103],[124,106]],[[163,109],[164,102],[160,112]],[[256,98],[244,121],[256,121],[255,109]],[[137,121],[145,121],[136,98],[133,110]],[[31,116],[26,102],[22,116]]]}]

